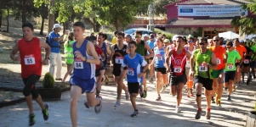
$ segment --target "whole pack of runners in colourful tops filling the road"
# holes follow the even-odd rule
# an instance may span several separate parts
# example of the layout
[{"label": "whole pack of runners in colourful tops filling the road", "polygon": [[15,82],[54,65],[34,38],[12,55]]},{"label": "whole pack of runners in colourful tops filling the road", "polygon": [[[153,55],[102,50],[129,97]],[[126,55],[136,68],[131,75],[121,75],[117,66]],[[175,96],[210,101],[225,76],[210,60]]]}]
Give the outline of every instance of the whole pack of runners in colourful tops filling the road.
[{"label": "whole pack of runners in colourful tops filling the road", "polygon": [[[35,84],[41,76],[42,62],[48,63],[50,47],[37,37],[33,37],[33,25],[30,23],[22,25],[22,30],[24,38],[18,41],[10,57],[21,63],[21,76],[25,83],[23,93],[30,108],[30,125],[33,125],[35,115],[32,109],[32,97],[41,106],[43,118],[48,119],[48,105],[43,104]],[[156,77],[156,101],[161,101],[161,93],[171,86],[170,94],[177,98],[175,108],[177,113],[181,111],[182,91],[187,85],[185,89],[187,97],[196,95],[195,119],[200,119],[202,115],[202,87],[205,88],[204,95],[207,100],[206,118],[210,119],[211,103],[216,102],[221,107],[223,86],[228,90],[227,100],[230,101],[232,91],[244,81],[241,80],[240,75],[247,75],[247,85],[252,79],[250,67],[254,69],[256,48],[253,46],[252,50],[244,46],[244,41],[238,39],[227,41],[223,47],[219,36],[214,36],[213,46],[208,47],[206,38],[198,40],[191,35],[174,36],[170,41],[161,33],[157,33],[156,37],[153,34],[142,36],[142,32],[137,30],[135,40],[123,32],[117,32],[115,36],[117,43],[109,47],[105,42],[107,36],[104,33],[100,32],[97,37],[84,37],[84,30],[82,22],[76,22],[73,25],[73,32],[65,42],[65,52],[69,55],[66,58],[72,59],[64,78],[65,80],[67,75],[71,75],[72,126],[77,126],[77,102],[84,92],[87,97],[85,107],[94,107],[95,113],[100,113],[102,108],[100,91],[105,79],[107,62],[111,63],[112,74],[117,84],[117,102],[114,107],[121,105],[122,90],[125,91],[126,99],[130,99],[134,107],[131,117],[139,114],[135,98],[138,95],[147,97],[145,78],[147,69],[151,72],[149,80],[151,83],[154,81],[153,77]],[[41,47],[46,49],[43,61]],[[20,56],[15,56],[18,51]],[[254,70],[252,75],[255,78]],[[127,80],[128,87],[124,84],[124,79]]]}]

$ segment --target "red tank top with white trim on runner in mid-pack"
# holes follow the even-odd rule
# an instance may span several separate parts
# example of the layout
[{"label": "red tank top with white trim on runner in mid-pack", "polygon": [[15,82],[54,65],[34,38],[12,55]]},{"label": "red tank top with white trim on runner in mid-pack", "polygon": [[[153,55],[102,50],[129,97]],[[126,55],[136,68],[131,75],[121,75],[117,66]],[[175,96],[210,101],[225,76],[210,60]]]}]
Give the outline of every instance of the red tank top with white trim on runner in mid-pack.
[{"label": "red tank top with white trim on runner in mid-pack", "polygon": [[174,75],[184,75],[186,61],[185,49],[183,49],[180,54],[177,54],[176,48],[174,48],[171,58],[171,69]]}]

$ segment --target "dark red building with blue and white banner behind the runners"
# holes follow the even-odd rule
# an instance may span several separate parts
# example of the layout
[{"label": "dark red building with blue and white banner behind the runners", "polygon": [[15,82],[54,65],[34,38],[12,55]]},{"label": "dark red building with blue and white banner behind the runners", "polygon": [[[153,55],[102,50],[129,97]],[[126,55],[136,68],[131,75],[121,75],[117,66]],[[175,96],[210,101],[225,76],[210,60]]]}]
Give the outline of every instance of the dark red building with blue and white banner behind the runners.
[{"label": "dark red building with blue and white banner behind the runners", "polygon": [[251,3],[246,0],[179,0],[163,8],[167,9],[168,22],[165,30],[179,35],[192,34],[212,38],[219,32],[239,33],[230,23],[234,17],[255,16],[241,5]]}]

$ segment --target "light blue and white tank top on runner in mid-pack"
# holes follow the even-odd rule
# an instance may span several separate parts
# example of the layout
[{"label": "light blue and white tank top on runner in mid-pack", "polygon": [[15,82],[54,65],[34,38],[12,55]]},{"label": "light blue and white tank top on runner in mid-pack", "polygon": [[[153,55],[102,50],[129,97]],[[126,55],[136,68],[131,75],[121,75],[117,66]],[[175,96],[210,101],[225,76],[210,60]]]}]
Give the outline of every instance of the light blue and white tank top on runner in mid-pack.
[{"label": "light blue and white tank top on runner in mid-pack", "polygon": [[155,66],[156,68],[165,68],[164,62],[165,62],[165,52],[163,47],[161,49],[158,49],[158,47],[154,48],[155,52]]}]

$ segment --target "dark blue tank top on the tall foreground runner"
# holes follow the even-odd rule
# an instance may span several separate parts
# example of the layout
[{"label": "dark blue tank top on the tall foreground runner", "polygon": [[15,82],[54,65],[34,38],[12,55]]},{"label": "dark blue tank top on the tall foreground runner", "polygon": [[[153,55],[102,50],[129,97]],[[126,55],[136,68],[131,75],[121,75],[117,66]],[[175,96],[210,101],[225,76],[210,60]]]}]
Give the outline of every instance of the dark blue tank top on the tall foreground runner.
[{"label": "dark blue tank top on the tall foreground runner", "polygon": [[90,80],[94,78],[95,76],[95,64],[94,63],[87,63],[82,61],[82,59],[77,58],[75,55],[76,51],[79,51],[82,53],[82,56],[88,59],[94,59],[93,56],[89,56],[87,53],[87,45],[88,40],[84,40],[82,42],[82,46],[77,48],[77,41],[73,44],[73,54],[74,54],[74,71],[72,76],[75,76],[81,80]]}]

